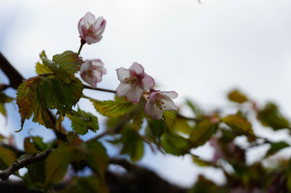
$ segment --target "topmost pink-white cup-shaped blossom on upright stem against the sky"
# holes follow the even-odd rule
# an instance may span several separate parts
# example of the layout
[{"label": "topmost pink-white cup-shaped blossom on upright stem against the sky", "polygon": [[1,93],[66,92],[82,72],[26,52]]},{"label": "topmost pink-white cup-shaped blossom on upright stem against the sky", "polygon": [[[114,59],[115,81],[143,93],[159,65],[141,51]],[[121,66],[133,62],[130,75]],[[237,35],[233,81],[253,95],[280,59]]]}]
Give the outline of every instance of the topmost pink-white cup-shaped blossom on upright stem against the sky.
[{"label": "topmost pink-white cup-shaped blossom on upright stem against the sky", "polygon": [[80,38],[87,44],[94,44],[102,39],[102,34],[105,30],[106,21],[103,17],[95,16],[91,12],[87,12],[82,17],[78,24]]}]

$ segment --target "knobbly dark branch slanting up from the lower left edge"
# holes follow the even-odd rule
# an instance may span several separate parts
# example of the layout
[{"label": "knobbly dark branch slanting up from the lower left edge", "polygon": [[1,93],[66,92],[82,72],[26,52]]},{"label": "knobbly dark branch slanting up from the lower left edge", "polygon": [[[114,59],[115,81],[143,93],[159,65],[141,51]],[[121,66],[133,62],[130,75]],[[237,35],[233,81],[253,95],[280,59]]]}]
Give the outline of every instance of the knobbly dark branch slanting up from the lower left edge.
[{"label": "knobbly dark branch slanting up from the lower left edge", "polygon": [[0,172],[1,180],[2,181],[7,180],[10,175],[12,175],[14,172],[17,172],[19,169],[25,167],[26,165],[30,165],[39,160],[45,159],[48,156],[48,154],[51,154],[51,152],[53,151],[54,149],[46,149],[46,151],[44,151],[42,154],[35,154],[33,156],[26,157],[22,160],[15,161],[15,163],[12,163],[10,167]]}]

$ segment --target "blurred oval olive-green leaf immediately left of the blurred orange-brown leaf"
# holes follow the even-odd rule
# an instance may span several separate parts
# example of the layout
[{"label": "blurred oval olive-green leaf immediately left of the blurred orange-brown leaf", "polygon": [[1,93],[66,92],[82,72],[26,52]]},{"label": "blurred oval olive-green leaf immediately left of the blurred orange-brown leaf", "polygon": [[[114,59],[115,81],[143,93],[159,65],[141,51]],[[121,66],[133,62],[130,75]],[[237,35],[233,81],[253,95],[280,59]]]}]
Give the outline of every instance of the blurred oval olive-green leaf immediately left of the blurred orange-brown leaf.
[{"label": "blurred oval olive-green leaf immediately left of the blurred orange-brown leaf", "polygon": [[215,125],[209,120],[202,120],[195,125],[189,139],[195,143],[195,147],[198,147],[209,141],[211,136],[215,134],[215,131]]}]

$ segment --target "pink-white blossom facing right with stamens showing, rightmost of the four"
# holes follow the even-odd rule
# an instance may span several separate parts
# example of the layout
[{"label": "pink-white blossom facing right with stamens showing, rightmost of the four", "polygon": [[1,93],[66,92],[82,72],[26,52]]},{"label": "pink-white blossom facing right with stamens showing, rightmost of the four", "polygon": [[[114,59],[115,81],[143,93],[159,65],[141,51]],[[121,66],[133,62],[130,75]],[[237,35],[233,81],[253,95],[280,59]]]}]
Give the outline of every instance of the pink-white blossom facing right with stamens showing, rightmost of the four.
[{"label": "pink-white blossom facing right with stamens showing, rightmost of the four", "polygon": [[150,90],[150,96],[145,104],[145,114],[151,115],[153,119],[161,119],[164,111],[177,111],[172,99],[177,98],[175,91]]}]

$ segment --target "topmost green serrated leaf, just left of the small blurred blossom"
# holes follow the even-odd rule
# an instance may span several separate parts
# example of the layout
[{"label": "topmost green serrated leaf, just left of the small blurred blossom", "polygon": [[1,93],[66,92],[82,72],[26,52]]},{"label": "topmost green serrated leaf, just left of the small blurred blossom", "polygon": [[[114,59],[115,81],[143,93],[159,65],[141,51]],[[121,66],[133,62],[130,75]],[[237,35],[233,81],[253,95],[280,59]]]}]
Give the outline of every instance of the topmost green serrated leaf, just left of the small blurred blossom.
[{"label": "topmost green serrated leaf, just left of the small blurred blossom", "polygon": [[75,80],[75,73],[78,71],[80,64],[82,64],[82,59],[78,57],[77,53],[72,51],[65,51],[64,53],[54,55],[53,61],[49,60],[44,55],[39,55],[42,59],[44,65],[51,68],[58,79],[64,81],[65,83]]}]

